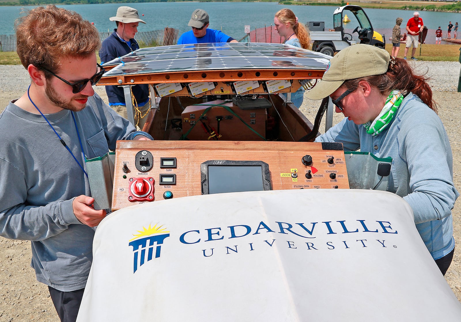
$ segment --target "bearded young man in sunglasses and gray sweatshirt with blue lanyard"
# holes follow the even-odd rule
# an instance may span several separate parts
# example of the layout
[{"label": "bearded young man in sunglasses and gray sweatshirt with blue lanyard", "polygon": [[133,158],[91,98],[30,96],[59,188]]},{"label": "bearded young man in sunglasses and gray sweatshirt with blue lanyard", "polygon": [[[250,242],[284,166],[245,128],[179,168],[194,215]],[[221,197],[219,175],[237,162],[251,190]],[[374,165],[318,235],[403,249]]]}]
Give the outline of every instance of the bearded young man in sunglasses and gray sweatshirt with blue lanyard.
[{"label": "bearded young man in sunglasses and gray sweatshirt with blue lanyard", "polygon": [[61,321],[77,318],[92,261],[95,210],[85,159],[117,140],[149,140],[95,94],[98,31],[75,12],[38,7],[18,19],[31,84],[0,115],[0,235],[31,240],[37,280]]}]

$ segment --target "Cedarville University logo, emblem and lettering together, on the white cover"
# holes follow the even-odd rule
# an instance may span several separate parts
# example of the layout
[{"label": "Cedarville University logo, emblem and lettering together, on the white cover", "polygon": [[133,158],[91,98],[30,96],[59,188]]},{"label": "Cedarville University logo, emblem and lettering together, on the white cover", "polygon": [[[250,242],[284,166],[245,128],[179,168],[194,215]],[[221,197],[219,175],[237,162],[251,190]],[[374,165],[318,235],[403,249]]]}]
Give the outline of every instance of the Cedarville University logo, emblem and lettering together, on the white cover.
[{"label": "Cedarville University logo, emblem and lettering together, on the white cover", "polygon": [[[163,225],[138,230],[139,234],[133,234],[135,238],[130,240],[129,246],[133,246],[133,273],[139,266],[154,258],[160,257],[160,248],[169,231],[162,228]],[[270,238],[267,238],[270,234]],[[274,238],[276,235],[278,238]],[[355,237],[361,234],[360,238]],[[366,234],[367,238],[363,238]],[[189,230],[179,236],[179,242],[183,245],[194,245],[207,243],[209,241],[232,240],[230,245],[223,245],[221,249],[227,255],[237,252],[252,252],[263,249],[264,247],[284,247],[298,251],[333,251],[347,250],[351,248],[397,248],[392,244],[391,236],[398,234],[395,228],[388,221],[382,220],[337,220],[325,222],[259,222],[253,225],[232,225],[225,227],[204,228]],[[328,236],[327,240],[317,241],[319,235]],[[251,240],[245,239],[240,243],[236,240],[249,236]],[[346,238],[348,236],[348,238]],[[389,240],[390,239],[390,240]],[[251,242],[248,242],[251,241]],[[211,246],[211,245],[210,245]],[[199,249],[201,249],[200,247]],[[392,249],[391,248],[391,249]],[[211,257],[215,252],[214,247],[201,249],[200,255]]]}]

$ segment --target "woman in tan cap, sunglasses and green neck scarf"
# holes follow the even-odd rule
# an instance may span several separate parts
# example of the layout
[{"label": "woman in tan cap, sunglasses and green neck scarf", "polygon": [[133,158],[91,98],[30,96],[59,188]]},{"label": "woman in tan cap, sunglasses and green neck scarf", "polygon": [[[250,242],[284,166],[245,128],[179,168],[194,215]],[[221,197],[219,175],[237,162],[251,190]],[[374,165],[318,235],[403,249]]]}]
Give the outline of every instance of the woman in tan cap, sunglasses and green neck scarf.
[{"label": "woman in tan cap, sunglasses and green neck scarf", "polygon": [[448,135],[426,80],[405,60],[358,44],[331,58],[322,81],[306,96],[330,96],[346,117],[315,141],[392,158],[388,191],[411,206],[416,228],[444,275],[454,253],[451,209],[459,193]]}]

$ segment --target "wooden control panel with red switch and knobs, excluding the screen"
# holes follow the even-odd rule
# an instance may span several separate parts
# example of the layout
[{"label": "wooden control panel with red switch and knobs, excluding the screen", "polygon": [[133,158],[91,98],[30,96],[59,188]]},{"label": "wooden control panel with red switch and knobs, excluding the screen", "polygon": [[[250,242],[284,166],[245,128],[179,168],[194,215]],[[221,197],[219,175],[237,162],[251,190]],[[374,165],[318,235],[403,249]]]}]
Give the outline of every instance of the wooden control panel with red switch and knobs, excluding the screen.
[{"label": "wooden control panel with red switch and knobs, excluding the screen", "polygon": [[341,143],[118,141],[112,210],[202,194],[201,167],[210,160],[262,161],[272,190],[349,188]]}]

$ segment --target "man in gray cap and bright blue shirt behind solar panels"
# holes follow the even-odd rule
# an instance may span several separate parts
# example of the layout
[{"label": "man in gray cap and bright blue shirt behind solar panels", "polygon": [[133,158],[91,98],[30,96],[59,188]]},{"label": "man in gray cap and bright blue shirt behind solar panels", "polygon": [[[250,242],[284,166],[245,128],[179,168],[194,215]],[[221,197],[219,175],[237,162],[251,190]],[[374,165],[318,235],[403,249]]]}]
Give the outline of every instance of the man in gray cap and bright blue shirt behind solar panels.
[{"label": "man in gray cap and bright blue shirt behind solar panels", "polygon": [[178,45],[204,44],[213,42],[238,42],[220,30],[208,29],[210,17],[205,10],[195,9],[188,25],[192,30],[185,32],[179,37]]}]

